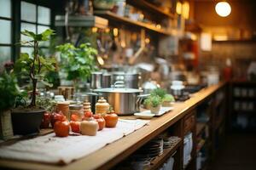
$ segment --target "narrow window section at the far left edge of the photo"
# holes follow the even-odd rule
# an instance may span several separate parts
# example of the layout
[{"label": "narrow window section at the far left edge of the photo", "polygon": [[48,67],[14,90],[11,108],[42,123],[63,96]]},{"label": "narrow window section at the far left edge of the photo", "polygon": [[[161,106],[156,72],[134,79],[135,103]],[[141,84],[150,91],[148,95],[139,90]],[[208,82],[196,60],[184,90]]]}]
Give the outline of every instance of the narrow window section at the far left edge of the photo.
[{"label": "narrow window section at the far left edge of the photo", "polygon": [[0,70],[11,60],[12,12],[11,0],[0,0]]}]

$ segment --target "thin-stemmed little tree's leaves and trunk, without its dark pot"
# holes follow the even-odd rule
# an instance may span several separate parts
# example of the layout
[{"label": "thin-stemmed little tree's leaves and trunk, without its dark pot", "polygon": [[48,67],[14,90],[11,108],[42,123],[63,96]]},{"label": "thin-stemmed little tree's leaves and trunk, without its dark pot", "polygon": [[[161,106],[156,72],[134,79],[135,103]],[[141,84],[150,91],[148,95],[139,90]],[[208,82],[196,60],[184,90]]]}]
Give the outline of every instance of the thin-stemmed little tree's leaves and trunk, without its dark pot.
[{"label": "thin-stemmed little tree's leaves and trunk, without its dark pot", "polygon": [[55,70],[55,58],[46,58],[38,53],[39,42],[49,40],[49,37],[54,34],[53,30],[47,29],[40,34],[35,34],[32,31],[21,31],[23,36],[29,37],[29,41],[21,41],[21,44],[26,44],[33,47],[33,54],[21,53],[20,59],[15,63],[15,72],[19,75],[28,76],[32,81],[32,100],[29,107],[36,106],[36,93],[38,81],[45,85],[51,86],[44,76],[47,71]]}]

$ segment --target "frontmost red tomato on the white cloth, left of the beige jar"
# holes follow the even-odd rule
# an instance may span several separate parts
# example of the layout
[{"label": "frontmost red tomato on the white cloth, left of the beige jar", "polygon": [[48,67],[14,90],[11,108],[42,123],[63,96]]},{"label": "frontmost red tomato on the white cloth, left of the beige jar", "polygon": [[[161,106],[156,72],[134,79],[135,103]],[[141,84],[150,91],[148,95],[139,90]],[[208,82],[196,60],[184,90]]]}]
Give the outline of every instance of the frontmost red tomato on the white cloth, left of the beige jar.
[{"label": "frontmost red tomato on the white cloth, left of the beige jar", "polygon": [[55,122],[54,132],[58,137],[67,137],[69,133],[69,122],[67,121]]}]

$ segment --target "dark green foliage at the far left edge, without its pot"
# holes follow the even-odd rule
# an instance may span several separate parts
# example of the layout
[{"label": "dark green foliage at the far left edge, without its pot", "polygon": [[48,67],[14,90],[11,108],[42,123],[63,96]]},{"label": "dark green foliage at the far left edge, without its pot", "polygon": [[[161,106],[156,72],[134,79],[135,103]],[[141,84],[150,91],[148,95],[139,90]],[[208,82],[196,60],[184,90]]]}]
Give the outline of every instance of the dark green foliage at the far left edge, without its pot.
[{"label": "dark green foliage at the far left edge, without its pot", "polygon": [[0,75],[0,113],[15,105],[15,99],[20,94],[15,74],[3,71]]}]

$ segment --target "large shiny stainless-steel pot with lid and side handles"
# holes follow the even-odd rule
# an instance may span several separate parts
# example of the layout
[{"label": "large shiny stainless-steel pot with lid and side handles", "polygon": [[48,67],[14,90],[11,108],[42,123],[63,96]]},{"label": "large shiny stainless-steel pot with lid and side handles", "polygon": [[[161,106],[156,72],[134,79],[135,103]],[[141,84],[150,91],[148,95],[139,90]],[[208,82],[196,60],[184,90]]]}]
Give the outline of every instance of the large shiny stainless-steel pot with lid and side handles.
[{"label": "large shiny stainless-steel pot with lid and side handles", "polygon": [[94,90],[94,92],[108,100],[108,103],[113,106],[113,110],[118,115],[131,115],[138,112],[143,97],[149,96],[149,94],[140,95],[143,92],[140,89],[118,87],[120,87],[120,82],[115,82],[113,88]]}]

